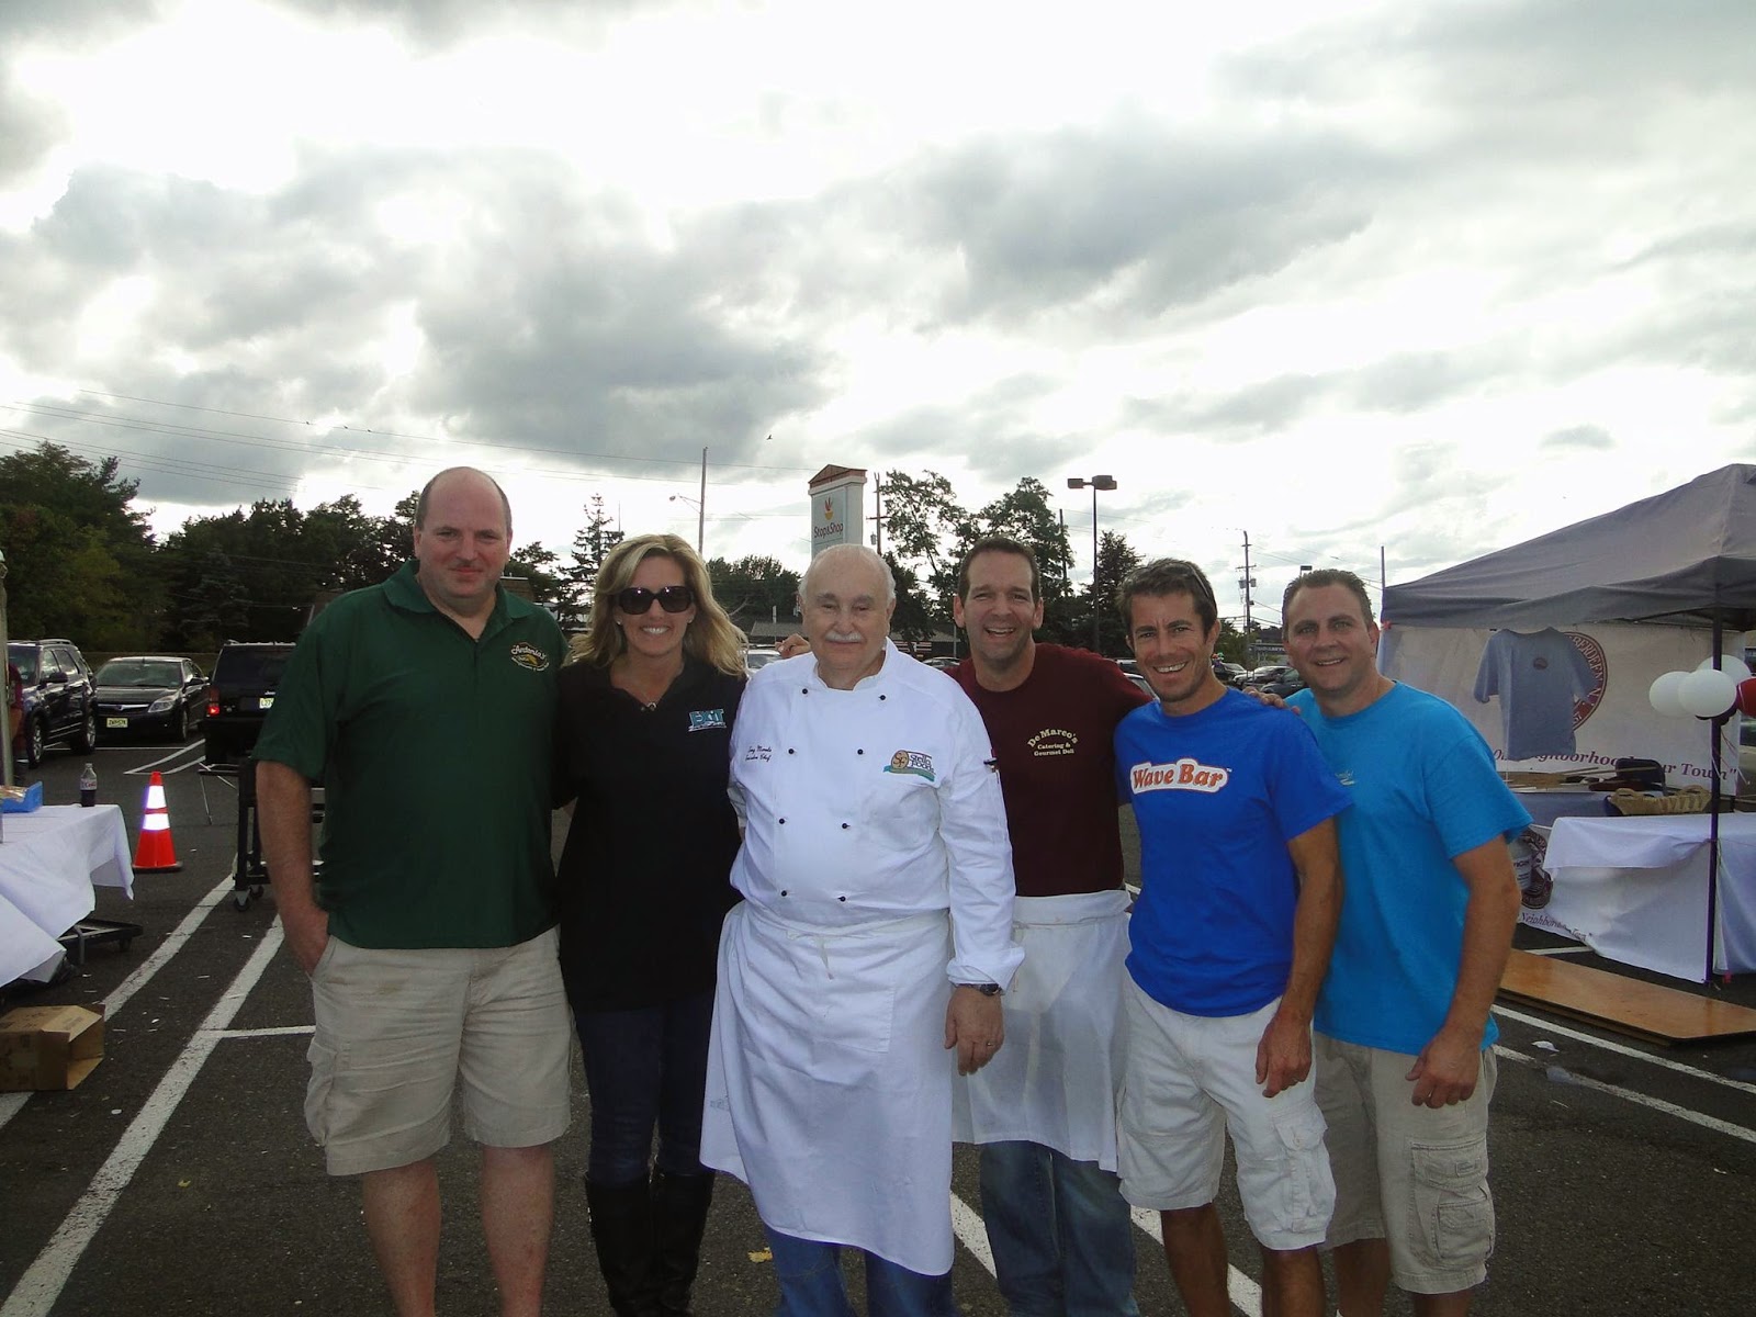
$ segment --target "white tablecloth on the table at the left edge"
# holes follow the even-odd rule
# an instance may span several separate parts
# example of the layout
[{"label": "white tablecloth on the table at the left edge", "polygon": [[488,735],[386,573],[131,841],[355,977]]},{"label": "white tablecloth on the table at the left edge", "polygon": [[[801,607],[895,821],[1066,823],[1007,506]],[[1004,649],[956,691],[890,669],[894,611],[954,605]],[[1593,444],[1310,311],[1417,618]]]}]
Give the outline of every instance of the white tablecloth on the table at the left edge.
[{"label": "white tablecloth on the table at the left edge", "polygon": [[121,808],[46,804],[0,820],[0,983],[47,978],[56,941],[91,913],[93,887],[133,896]]}]

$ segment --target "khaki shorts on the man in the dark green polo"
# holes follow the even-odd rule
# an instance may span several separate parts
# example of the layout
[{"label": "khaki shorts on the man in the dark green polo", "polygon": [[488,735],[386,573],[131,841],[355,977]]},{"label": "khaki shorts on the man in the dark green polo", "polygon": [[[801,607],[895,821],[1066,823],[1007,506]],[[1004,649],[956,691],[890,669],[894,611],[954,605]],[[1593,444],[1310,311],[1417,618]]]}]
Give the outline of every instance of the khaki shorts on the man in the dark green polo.
[{"label": "khaki shorts on the man in the dark green polo", "polygon": [[492,950],[367,950],[330,938],[311,975],[306,1124],[330,1175],[423,1161],[464,1133],[493,1148],[567,1131],[572,1022],[553,929]]}]

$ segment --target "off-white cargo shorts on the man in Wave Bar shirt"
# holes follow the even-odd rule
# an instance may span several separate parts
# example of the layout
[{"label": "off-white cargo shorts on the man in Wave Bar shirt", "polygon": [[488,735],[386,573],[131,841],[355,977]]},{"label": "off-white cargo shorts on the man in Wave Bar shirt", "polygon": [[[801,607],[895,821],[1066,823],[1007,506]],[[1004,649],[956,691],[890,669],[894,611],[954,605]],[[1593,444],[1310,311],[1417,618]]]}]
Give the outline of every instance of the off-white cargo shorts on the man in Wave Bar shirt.
[{"label": "off-white cargo shorts on the man in Wave Bar shirt", "polygon": [[1173,1212],[1219,1196],[1226,1134],[1238,1196],[1264,1249],[1324,1240],[1335,1180],[1310,1080],[1273,1098],[1256,1082],[1256,1048],[1278,1001],[1250,1015],[1206,1018],[1161,1006],[1129,976],[1117,1162],[1122,1198]]}]

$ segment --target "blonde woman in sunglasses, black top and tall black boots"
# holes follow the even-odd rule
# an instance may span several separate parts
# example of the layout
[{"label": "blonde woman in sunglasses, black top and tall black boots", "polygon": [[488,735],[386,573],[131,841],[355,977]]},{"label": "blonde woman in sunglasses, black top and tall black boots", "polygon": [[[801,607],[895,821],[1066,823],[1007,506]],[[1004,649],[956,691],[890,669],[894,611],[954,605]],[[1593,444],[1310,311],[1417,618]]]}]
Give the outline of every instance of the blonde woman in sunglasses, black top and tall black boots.
[{"label": "blonde woman in sunglasses, black top and tall black boots", "polygon": [[[560,962],[592,1096],[587,1205],[616,1313],[687,1313],[713,1173],[699,1159],[743,632],[676,536],[604,560],[560,673]],[[657,1169],[648,1175],[653,1129]]]}]

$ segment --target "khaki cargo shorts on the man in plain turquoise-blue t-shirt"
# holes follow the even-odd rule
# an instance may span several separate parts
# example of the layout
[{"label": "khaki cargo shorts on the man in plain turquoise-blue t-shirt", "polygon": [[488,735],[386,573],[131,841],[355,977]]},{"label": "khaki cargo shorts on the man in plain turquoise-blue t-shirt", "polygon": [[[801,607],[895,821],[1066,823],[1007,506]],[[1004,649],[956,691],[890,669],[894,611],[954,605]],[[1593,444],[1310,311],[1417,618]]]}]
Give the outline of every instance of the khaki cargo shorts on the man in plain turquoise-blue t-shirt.
[{"label": "khaki cargo shorts on the man in plain turquoise-blue t-shirt", "polygon": [[1468,1101],[1436,1112],[1408,1101],[1414,1064],[1401,1052],[1317,1034],[1317,1101],[1329,1122],[1336,1182],[1328,1245],[1385,1240],[1391,1277],[1403,1291],[1456,1294],[1487,1278],[1494,1252],[1487,1192],[1494,1050],[1482,1052]]}]

